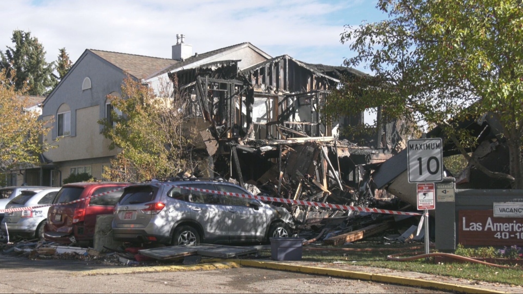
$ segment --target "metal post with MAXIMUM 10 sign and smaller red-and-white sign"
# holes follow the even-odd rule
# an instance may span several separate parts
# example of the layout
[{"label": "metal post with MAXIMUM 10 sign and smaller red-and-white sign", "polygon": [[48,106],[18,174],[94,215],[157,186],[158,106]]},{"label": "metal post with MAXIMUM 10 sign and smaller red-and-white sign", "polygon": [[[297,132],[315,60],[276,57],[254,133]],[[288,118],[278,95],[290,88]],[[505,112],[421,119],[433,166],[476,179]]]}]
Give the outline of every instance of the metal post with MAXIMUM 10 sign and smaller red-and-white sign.
[{"label": "metal post with MAXIMUM 10 sign and smaller red-and-white sign", "polygon": [[417,206],[418,210],[423,210],[425,254],[429,254],[428,210],[436,208],[434,182],[443,181],[443,143],[441,138],[408,140],[407,158],[408,182],[418,183],[416,190]]}]

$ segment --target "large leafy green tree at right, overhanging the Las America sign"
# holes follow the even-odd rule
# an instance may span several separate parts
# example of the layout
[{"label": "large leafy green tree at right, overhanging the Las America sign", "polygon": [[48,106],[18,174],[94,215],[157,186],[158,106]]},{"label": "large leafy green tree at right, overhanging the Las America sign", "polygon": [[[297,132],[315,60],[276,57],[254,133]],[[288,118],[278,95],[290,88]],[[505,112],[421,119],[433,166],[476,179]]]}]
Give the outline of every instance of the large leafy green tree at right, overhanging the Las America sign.
[{"label": "large leafy green tree at right, overhanging the Las America sign", "polygon": [[[356,52],[347,66],[373,76],[344,80],[325,111],[333,116],[383,106],[383,119],[441,125],[462,155],[490,177],[523,188],[523,4],[516,0],[379,0],[389,18],[346,26]],[[487,114],[501,122],[509,174],[491,172],[467,154],[477,144],[453,122]]]}]

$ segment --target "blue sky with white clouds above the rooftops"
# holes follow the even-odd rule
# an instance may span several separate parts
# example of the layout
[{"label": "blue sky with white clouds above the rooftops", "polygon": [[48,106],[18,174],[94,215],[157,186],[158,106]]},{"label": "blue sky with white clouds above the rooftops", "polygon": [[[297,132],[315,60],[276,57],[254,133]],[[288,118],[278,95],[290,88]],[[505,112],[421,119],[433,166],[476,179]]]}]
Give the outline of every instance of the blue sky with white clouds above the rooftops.
[{"label": "blue sky with white clouds above the rooftops", "polygon": [[[0,50],[13,30],[30,31],[56,60],[65,48],[73,62],[86,50],[170,58],[176,34],[203,53],[251,42],[271,56],[341,65],[354,53],[339,42],[345,25],[386,17],[377,0],[18,0],[0,10]],[[357,68],[368,72],[362,66]]]}]

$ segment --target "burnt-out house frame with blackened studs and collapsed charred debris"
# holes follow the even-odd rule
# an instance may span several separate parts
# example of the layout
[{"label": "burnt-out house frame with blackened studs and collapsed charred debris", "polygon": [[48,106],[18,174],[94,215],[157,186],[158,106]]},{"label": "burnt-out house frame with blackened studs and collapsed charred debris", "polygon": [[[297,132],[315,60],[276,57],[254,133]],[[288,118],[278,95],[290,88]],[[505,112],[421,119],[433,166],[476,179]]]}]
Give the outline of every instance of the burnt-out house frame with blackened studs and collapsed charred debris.
[{"label": "burnt-out house frame with blackened studs and collapsed charred debris", "polygon": [[[328,121],[321,110],[341,75],[365,75],[347,67],[307,64],[282,55],[240,69],[228,60],[169,73],[190,95],[188,128],[199,134],[191,174],[234,179],[253,194],[350,206],[409,209],[369,177],[375,164],[405,140],[401,122],[380,128],[366,146],[335,137],[338,127],[363,123],[363,113]],[[288,205],[306,239],[325,239],[380,222],[386,215],[355,214]],[[360,219],[356,220],[355,219]],[[318,234],[321,232],[321,236]]]}]

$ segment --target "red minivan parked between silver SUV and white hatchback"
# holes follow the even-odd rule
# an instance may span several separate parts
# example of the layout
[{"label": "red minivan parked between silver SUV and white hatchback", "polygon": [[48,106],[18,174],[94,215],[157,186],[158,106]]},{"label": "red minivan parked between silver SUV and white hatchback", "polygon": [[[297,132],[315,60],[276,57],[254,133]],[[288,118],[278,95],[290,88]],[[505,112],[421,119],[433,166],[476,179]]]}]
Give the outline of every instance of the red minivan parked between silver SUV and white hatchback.
[{"label": "red minivan parked between silver SUV and white hatchback", "polygon": [[[129,183],[118,182],[63,185],[49,208],[47,224],[43,229],[44,239],[63,244],[92,245],[96,216],[112,214],[127,185]],[[97,196],[99,194],[104,195]],[[77,202],[66,204],[73,201]]]}]

